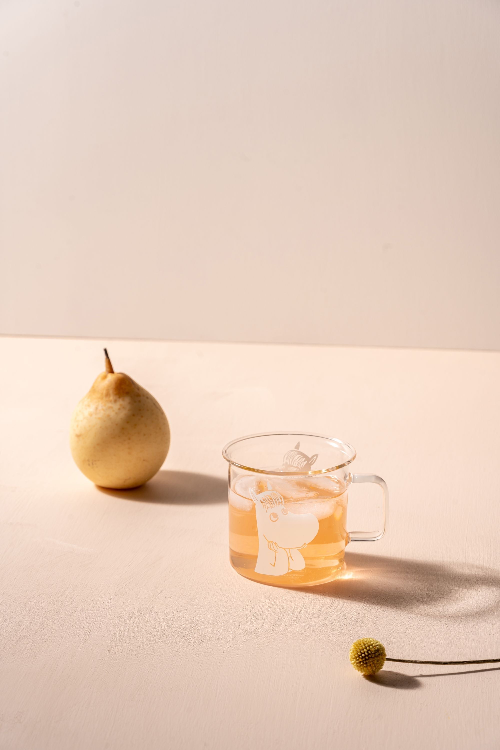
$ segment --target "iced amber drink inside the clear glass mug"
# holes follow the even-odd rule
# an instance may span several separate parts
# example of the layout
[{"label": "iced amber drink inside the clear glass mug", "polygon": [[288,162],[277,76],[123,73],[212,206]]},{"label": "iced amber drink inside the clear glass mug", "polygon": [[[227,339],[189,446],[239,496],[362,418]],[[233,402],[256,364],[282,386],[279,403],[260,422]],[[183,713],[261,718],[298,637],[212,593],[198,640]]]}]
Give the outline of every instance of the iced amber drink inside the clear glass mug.
[{"label": "iced amber drink inside the clear glass mug", "polygon": [[[267,482],[262,477],[256,479],[244,475],[238,477],[229,490],[229,559],[233,568],[247,578],[275,586],[312,586],[336,578],[343,571],[346,548],[346,483],[336,476],[317,477],[314,480],[307,477],[272,477],[271,482],[272,489],[283,498],[285,513],[313,514],[318,519],[316,536],[304,547],[298,548],[304,557],[305,567],[301,570],[290,569],[280,575],[256,572],[259,533],[256,503],[249,499],[249,488],[255,493],[263,493]],[[269,507],[268,512],[283,513],[283,508]],[[276,545],[271,542],[271,547]],[[283,550],[278,550],[278,553],[283,555]],[[289,550],[289,553],[295,560],[298,558],[294,550]],[[301,565],[301,562],[298,564]]]}]

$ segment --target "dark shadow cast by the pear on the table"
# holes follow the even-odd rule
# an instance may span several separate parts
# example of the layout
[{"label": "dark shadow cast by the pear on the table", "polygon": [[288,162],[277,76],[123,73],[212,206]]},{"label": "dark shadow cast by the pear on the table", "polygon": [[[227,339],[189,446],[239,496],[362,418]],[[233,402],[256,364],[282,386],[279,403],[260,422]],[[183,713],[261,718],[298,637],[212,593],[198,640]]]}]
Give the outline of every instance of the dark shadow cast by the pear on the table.
[{"label": "dark shadow cast by the pear on the table", "polygon": [[227,480],[209,474],[163,469],[141,487],[110,490],[97,487],[106,495],[136,502],[161,502],[165,505],[208,505],[227,502]]}]

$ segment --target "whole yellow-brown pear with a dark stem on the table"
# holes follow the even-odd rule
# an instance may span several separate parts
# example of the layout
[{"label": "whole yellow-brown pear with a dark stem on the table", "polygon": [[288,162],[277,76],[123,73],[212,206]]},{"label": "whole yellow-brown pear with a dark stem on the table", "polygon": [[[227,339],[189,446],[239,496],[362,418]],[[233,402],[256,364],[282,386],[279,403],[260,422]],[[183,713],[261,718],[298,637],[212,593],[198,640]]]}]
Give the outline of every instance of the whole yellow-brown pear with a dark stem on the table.
[{"label": "whole yellow-brown pear with a dark stem on the table", "polygon": [[76,466],[100,487],[139,487],[161,468],[169,452],[165,413],[150,393],[124,373],[106,371],[73,412],[70,448]]}]

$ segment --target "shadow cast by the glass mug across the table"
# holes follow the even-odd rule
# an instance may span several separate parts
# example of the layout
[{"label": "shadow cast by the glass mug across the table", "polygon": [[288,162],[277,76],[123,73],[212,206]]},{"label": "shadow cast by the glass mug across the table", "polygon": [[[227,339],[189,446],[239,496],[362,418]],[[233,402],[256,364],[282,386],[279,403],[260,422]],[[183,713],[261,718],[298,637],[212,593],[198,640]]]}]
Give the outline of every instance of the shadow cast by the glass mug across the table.
[{"label": "shadow cast by the glass mug across the table", "polygon": [[460,563],[346,552],[346,575],[308,592],[433,617],[472,617],[500,607],[500,574]]}]

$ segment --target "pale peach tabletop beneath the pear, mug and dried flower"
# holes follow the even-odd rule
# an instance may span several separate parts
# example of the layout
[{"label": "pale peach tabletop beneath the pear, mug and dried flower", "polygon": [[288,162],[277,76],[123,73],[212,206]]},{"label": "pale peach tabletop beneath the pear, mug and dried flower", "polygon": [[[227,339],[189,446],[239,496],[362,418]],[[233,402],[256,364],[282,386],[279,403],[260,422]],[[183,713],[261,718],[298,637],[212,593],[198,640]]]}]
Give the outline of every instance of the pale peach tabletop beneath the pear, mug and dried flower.
[{"label": "pale peach tabletop beneath the pear, mug and dried flower", "polygon": [[[139,490],[99,490],[70,456],[103,345],[172,428]],[[499,747],[498,666],[370,681],[348,652],[373,636],[402,658],[500,657],[500,353],[0,347],[1,748]],[[387,535],[349,545],[350,577],[327,586],[229,565],[220,449],[280,429],[342,437],[388,482]],[[376,492],[351,488],[349,526],[370,526]]]}]

